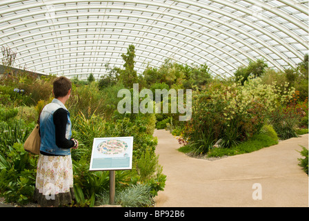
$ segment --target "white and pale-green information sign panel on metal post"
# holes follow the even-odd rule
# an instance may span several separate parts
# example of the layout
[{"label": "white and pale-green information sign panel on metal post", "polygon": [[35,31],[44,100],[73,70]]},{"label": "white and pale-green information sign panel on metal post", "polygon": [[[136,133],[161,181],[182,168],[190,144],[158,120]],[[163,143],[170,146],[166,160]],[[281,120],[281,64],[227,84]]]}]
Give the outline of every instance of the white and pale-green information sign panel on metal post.
[{"label": "white and pale-green information sign panel on metal post", "polygon": [[133,137],[94,138],[90,171],[132,169]]}]

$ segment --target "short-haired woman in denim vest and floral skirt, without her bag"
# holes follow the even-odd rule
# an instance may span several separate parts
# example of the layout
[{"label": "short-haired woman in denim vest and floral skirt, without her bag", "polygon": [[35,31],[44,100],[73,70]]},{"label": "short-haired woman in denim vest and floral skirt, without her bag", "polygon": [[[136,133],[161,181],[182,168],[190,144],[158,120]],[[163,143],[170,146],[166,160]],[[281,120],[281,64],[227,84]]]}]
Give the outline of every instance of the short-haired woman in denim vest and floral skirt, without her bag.
[{"label": "short-haired woman in denim vest and floral skirt, without her bag", "polygon": [[70,113],[64,106],[71,90],[70,79],[55,79],[54,99],[43,108],[39,117],[41,146],[34,200],[40,206],[66,205],[74,199],[70,148],[77,148],[79,143],[71,139]]}]

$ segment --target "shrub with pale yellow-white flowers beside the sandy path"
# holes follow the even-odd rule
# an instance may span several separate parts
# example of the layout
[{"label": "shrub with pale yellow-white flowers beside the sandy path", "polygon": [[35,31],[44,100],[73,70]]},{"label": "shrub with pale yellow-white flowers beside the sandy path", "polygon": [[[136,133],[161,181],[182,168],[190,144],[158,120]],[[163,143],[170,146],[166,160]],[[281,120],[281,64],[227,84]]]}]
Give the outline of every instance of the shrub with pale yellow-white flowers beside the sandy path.
[{"label": "shrub with pale yellow-white flowers beside the sandy path", "polygon": [[[283,89],[281,89],[283,88]],[[287,104],[294,88],[261,84],[259,77],[240,83],[210,84],[192,97],[192,119],[183,136],[197,151],[207,153],[219,139],[230,147],[261,130],[278,106]]]}]

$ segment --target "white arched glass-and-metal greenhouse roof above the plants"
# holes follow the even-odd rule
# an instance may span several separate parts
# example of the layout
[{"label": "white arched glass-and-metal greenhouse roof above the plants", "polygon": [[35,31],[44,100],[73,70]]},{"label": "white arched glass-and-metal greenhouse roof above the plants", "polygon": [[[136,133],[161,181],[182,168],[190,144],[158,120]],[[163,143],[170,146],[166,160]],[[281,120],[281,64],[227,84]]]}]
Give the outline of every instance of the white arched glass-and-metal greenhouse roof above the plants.
[{"label": "white arched glass-and-metal greenhouse roof above the plants", "polygon": [[308,53],[308,1],[0,1],[0,47],[17,52],[14,66],[99,78],[130,44],[138,73],[165,59],[223,77],[249,59],[283,70]]}]

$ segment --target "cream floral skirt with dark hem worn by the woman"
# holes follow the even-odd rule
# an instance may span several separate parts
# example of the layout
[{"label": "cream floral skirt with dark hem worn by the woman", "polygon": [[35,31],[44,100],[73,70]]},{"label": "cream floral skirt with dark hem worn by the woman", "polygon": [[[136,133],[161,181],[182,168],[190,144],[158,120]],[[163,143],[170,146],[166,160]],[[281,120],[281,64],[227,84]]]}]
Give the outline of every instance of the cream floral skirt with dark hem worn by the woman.
[{"label": "cream floral skirt with dark hem worn by the woman", "polygon": [[40,206],[59,206],[74,199],[71,155],[39,155],[34,201]]}]

